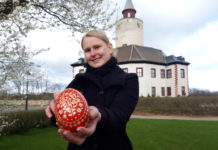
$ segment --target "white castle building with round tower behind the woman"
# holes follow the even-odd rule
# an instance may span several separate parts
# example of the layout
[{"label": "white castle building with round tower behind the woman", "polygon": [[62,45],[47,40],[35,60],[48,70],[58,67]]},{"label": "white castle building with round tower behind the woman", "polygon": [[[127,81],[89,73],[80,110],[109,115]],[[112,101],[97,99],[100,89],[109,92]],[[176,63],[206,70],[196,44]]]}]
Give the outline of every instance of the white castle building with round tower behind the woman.
[{"label": "white castle building with round tower behind the woman", "polygon": [[[143,44],[143,21],[127,0],[123,18],[116,22],[116,58],[119,66],[139,77],[139,96],[188,96],[188,65],[182,56],[166,56],[162,50]],[[84,71],[83,59],[71,64],[76,75]]]}]

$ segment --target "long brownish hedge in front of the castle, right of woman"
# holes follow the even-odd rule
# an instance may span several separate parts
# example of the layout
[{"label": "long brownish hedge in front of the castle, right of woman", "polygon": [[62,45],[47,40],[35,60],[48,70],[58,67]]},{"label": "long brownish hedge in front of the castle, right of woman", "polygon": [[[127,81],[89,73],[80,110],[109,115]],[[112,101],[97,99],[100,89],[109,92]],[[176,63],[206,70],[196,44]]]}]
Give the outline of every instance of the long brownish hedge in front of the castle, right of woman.
[{"label": "long brownish hedge in front of the castle, right of woman", "polygon": [[175,114],[175,115],[218,115],[218,96],[189,97],[141,97],[136,113]]}]

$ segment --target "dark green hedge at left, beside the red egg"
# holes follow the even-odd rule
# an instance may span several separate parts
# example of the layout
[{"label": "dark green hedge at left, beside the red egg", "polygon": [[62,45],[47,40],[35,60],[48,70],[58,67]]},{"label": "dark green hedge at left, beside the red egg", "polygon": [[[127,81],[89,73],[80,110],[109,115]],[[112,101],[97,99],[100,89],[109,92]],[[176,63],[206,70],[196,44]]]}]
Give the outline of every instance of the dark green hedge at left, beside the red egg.
[{"label": "dark green hedge at left, beside the red egg", "polygon": [[33,127],[50,126],[44,110],[0,113],[0,136],[22,133]]}]

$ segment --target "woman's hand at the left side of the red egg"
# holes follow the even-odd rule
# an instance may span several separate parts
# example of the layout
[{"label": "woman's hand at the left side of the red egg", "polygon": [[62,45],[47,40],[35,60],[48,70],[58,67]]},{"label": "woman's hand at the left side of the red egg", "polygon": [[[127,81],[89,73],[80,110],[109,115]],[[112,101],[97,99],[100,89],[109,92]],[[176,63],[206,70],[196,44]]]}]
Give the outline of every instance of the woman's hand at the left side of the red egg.
[{"label": "woman's hand at the left side of the red egg", "polygon": [[54,117],[54,112],[55,112],[55,99],[58,97],[58,95],[60,94],[61,92],[56,92],[54,93],[54,99],[51,100],[48,104],[48,106],[45,108],[45,114],[48,118],[52,118]]}]

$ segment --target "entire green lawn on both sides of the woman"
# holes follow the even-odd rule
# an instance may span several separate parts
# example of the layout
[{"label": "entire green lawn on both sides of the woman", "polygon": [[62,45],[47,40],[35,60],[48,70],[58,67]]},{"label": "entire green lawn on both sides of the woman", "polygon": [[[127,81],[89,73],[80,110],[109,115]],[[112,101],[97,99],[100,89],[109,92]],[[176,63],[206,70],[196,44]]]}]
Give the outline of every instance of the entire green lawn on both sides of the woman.
[{"label": "entire green lawn on both sides of the woman", "polygon": [[[131,119],[127,126],[134,150],[217,150],[218,122]],[[0,150],[65,150],[56,128],[31,129],[0,137]]]}]

